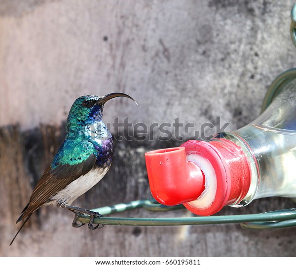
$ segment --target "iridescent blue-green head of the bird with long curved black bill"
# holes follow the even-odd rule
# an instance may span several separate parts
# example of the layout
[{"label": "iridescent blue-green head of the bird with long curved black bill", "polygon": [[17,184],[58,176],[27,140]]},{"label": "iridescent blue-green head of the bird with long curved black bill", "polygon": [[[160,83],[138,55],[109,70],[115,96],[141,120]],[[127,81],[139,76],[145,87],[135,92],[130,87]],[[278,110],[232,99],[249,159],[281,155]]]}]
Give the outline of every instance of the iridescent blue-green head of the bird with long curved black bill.
[{"label": "iridescent blue-green head of the bird with long curved black bill", "polygon": [[108,100],[119,96],[134,100],[124,93],[111,93],[105,96],[85,95],[77,98],[69,112],[68,123],[93,124],[101,121],[104,104]]}]

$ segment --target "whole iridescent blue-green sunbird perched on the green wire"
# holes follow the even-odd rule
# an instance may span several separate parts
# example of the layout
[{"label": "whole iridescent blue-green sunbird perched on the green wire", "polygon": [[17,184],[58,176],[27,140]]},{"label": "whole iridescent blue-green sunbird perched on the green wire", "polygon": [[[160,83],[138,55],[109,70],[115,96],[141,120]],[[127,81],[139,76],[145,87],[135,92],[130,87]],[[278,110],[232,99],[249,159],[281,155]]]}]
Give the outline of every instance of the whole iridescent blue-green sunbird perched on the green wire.
[{"label": "whole iridescent blue-green sunbird perched on the green wire", "polygon": [[[104,104],[118,96],[132,99],[123,93],[112,93],[102,97],[86,95],[75,100],[67,119],[65,141],[41,176],[29,203],[17,220],[17,223],[25,220],[19,231],[32,213],[43,205],[60,205],[74,212],[81,210],[70,205],[98,183],[111,165],[112,136],[102,116]],[[94,229],[91,223],[89,228]]]}]

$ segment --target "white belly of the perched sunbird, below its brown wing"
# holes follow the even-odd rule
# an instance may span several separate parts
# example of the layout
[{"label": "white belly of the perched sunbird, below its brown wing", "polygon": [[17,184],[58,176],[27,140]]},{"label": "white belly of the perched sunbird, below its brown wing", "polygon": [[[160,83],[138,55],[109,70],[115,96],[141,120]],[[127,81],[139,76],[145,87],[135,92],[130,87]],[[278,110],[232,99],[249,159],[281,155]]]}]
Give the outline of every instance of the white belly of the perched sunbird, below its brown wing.
[{"label": "white belly of the perched sunbird, below its brown wing", "polygon": [[51,197],[50,199],[52,201],[47,204],[59,206],[71,205],[78,196],[84,194],[86,191],[95,186],[104,177],[106,172],[109,170],[109,167],[93,168],[88,173],[80,176],[66,188]]}]

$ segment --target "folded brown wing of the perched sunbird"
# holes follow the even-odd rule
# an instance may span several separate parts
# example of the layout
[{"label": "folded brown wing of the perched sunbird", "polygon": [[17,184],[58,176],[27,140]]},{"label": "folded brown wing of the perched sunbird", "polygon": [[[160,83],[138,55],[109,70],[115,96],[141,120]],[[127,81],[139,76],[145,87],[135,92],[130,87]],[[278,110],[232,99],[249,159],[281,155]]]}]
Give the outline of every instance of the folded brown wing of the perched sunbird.
[{"label": "folded brown wing of the perched sunbird", "polygon": [[54,170],[48,167],[37,183],[28,205],[22,211],[17,223],[35,212],[40,206],[57,192],[66,188],[71,182],[81,175],[88,173],[96,162],[96,156],[91,154],[86,160],[79,164],[63,164]]}]

